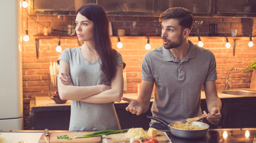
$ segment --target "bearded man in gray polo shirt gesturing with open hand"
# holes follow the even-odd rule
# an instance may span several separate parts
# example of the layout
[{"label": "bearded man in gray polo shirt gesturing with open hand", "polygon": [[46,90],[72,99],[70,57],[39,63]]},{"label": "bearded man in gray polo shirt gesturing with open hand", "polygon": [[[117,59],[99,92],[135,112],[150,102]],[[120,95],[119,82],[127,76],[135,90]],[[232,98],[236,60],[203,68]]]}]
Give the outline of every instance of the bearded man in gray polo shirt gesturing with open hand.
[{"label": "bearded man in gray polo shirt gesturing with open hand", "polygon": [[[217,94],[216,61],[210,50],[199,47],[188,40],[195,24],[190,10],[169,8],[160,15],[163,46],[149,51],[142,60],[141,88],[137,100],[122,97],[129,105],[127,111],[140,115],[149,108],[155,83],[155,98],[151,112],[154,117],[167,122],[181,121],[202,115],[200,108],[201,88],[204,86],[208,114],[221,110]],[[203,115],[207,115],[203,111]],[[207,117],[217,123],[221,115]],[[155,120],[150,126],[166,129]]]}]

